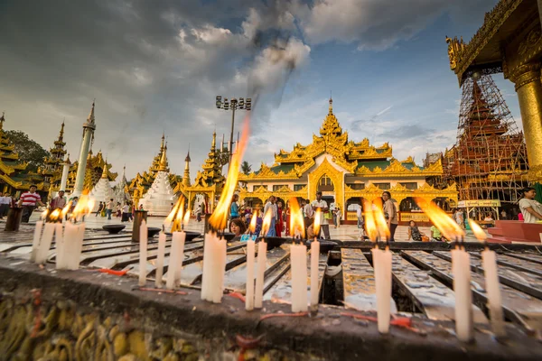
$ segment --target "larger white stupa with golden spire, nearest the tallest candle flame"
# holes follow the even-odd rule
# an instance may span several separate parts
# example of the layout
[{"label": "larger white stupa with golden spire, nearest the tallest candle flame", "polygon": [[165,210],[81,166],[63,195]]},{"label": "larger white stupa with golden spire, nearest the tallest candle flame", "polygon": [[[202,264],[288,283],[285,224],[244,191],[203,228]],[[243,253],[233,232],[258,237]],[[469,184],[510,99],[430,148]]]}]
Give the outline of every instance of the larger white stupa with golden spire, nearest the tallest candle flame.
[{"label": "larger white stupa with golden spire, nearest the tallest candle flame", "polygon": [[146,192],[143,199],[139,200],[139,205],[143,205],[143,209],[148,211],[149,216],[167,216],[172,210],[172,203],[177,201],[169,180],[166,151],[167,145],[164,147],[153,185]]}]

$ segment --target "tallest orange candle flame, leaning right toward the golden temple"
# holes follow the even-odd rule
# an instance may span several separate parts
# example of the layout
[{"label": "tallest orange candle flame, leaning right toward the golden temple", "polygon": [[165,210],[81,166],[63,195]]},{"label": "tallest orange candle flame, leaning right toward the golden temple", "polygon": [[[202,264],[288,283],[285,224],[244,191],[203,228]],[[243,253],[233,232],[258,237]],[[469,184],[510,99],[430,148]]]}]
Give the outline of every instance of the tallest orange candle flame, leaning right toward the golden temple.
[{"label": "tallest orange candle flame, leaning right toward the golden temple", "polygon": [[233,154],[231,162],[229,163],[228,177],[226,178],[226,184],[220,195],[219,204],[209,218],[210,225],[217,230],[226,228],[226,225],[228,224],[229,206],[235,189],[238,186],[239,167],[248,144],[248,134],[250,133],[249,125],[250,116],[247,115],[245,116],[245,121],[243,123],[243,133],[241,134],[241,139],[238,143],[237,153]]}]

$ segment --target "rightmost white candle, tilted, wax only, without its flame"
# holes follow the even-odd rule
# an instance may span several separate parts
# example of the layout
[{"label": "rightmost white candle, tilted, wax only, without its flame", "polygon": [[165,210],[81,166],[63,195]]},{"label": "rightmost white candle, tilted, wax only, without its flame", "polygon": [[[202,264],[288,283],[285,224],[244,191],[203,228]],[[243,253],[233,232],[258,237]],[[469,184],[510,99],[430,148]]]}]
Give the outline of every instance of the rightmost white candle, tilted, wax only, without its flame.
[{"label": "rightmost white candle, tilted, wax only, without its flame", "polygon": [[500,298],[499,273],[497,273],[497,259],[495,252],[485,249],[481,253],[483,272],[485,273],[486,292],[488,295],[488,309],[490,310],[491,329],[496,337],[506,336],[502,301]]}]

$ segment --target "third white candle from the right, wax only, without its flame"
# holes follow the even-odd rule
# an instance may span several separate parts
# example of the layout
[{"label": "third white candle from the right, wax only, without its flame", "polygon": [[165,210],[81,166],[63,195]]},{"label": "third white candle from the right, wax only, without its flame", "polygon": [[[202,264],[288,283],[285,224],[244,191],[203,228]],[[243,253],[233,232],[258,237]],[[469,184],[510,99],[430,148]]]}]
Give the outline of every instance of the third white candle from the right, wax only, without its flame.
[{"label": "third white candle from the right, wax only, without its flame", "polygon": [[378,332],[386,334],[391,317],[391,252],[378,248],[373,248],[371,252],[377,285]]}]

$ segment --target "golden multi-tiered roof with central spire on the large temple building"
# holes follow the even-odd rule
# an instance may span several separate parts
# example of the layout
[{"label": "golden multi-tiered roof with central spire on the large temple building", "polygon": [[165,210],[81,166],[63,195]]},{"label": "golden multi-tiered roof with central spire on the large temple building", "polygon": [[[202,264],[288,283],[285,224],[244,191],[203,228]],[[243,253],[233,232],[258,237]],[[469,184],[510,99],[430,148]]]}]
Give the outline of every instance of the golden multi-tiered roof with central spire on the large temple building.
[{"label": "golden multi-tiered roof with central spire on the large temple building", "polygon": [[248,175],[239,174],[239,180],[299,179],[315,164],[323,153],[332,155],[332,161],[350,172],[366,177],[434,176],[443,172],[439,161],[427,168],[416,165],[412,157],[399,162],[393,158],[388,143],[374,146],[365,138],[361,142],[349,141],[348,132],[342,131],[337,117],[333,114],[333,100],[330,99],[328,115],[320,128],[320,135],[313,134],[313,143],[294,145],[292,152],[280,150],[275,154],[275,164],[268,167],[262,163],[258,171]]}]

